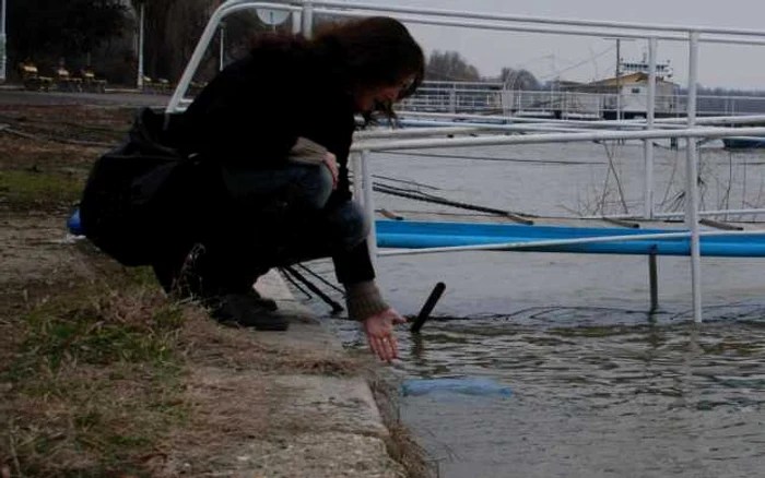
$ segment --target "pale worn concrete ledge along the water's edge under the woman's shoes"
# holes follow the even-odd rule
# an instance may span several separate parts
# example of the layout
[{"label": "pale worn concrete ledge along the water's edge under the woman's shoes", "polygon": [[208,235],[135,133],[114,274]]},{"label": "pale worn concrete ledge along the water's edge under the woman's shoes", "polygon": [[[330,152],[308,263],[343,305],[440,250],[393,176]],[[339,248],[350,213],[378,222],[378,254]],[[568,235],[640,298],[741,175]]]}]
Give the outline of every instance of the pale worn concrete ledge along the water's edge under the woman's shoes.
[{"label": "pale worn concrete ledge along the water's edge under the woman's shoes", "polygon": [[[279,303],[291,322],[284,333],[252,333],[258,343],[279,349],[337,359],[342,344],[303,304],[295,300],[275,271],[261,277],[258,291]],[[251,377],[247,377],[247,374]],[[215,473],[226,477],[403,477],[400,464],[387,452],[388,429],[362,377],[315,373],[258,373],[205,368],[195,373],[199,396],[220,390],[243,390],[252,381],[259,390],[236,396],[232,410],[249,409],[268,417],[257,423],[251,440],[216,459]],[[235,414],[234,414],[235,415]],[[235,417],[232,417],[235,419]],[[189,470],[193,471],[193,470]]]}]

